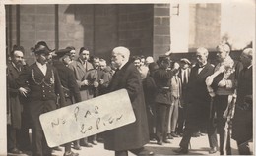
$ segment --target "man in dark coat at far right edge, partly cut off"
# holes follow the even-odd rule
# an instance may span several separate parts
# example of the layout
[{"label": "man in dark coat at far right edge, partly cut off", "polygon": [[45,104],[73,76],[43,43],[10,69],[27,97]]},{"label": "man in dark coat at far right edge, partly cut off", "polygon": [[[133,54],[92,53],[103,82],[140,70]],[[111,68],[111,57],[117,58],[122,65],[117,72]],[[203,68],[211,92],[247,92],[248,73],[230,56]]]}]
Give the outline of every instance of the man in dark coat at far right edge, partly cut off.
[{"label": "man in dark coat at far right edge, partly cut off", "polygon": [[237,101],[234,111],[232,138],[236,140],[239,154],[251,155],[248,142],[252,140],[252,48],[244,49],[240,60],[243,70],[240,72],[237,87]]}]

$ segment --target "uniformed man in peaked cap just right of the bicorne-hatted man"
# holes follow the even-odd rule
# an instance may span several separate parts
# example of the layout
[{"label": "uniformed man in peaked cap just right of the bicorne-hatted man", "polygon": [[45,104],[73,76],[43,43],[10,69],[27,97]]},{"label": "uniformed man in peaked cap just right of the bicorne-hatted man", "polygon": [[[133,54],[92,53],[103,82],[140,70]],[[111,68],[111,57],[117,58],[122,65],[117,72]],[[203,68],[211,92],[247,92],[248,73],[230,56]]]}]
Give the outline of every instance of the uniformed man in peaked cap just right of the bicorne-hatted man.
[{"label": "uniformed man in peaked cap just right of the bicorne-hatted man", "polygon": [[[56,51],[53,66],[58,70],[60,82],[64,91],[67,105],[81,102],[79,87],[71,69],[67,67],[70,63],[70,49]],[[64,156],[78,156],[78,153],[71,151],[71,143],[65,144]]]}]

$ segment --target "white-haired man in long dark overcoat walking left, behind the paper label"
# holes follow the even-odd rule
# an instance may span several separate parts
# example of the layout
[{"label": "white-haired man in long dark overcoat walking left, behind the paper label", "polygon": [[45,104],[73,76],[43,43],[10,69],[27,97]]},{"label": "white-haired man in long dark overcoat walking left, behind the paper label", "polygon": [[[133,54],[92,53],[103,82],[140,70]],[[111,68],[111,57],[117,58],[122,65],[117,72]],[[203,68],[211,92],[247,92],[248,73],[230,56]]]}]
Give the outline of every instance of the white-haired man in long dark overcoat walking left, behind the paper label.
[{"label": "white-haired man in long dark overcoat walking left, behind the paper label", "polygon": [[[112,65],[117,69],[109,86],[108,92],[125,88],[128,91],[136,121],[132,124],[106,132],[104,147],[114,150],[115,156],[128,156],[128,150],[136,155],[145,154],[143,146],[149,142],[146,106],[140,73],[128,62],[130,50],[116,47],[112,51]],[[146,154],[153,154],[148,152]]]}]

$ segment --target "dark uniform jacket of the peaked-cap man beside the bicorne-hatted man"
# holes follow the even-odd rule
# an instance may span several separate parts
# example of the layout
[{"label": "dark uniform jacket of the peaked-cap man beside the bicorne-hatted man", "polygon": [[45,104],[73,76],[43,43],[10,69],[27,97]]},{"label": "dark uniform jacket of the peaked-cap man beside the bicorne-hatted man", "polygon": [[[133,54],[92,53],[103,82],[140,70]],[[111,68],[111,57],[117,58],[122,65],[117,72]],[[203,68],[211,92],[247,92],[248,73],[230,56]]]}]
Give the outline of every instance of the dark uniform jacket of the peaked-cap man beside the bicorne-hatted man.
[{"label": "dark uniform jacket of the peaked-cap man beside the bicorne-hatted man", "polygon": [[66,98],[75,99],[73,103],[81,102],[81,95],[75,75],[71,69],[60,61],[53,61],[53,66],[59,73],[59,78]]}]

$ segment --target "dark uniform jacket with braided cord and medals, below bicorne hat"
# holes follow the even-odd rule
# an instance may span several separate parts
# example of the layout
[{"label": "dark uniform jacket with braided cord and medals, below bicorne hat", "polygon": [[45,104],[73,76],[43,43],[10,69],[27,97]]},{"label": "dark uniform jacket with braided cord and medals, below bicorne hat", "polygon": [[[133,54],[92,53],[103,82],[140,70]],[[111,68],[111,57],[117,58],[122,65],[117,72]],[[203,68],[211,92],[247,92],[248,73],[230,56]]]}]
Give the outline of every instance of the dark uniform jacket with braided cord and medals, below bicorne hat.
[{"label": "dark uniform jacket with braided cord and medals, below bicorne hat", "polygon": [[30,92],[28,97],[31,101],[45,101],[57,99],[60,96],[60,107],[66,106],[65,97],[61,88],[61,82],[57,70],[51,65],[46,65],[47,71],[44,76],[36,63],[32,64],[27,70],[24,70],[17,83],[21,87],[28,87]]}]

